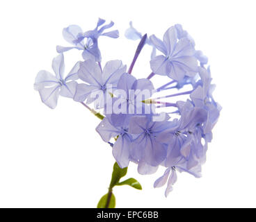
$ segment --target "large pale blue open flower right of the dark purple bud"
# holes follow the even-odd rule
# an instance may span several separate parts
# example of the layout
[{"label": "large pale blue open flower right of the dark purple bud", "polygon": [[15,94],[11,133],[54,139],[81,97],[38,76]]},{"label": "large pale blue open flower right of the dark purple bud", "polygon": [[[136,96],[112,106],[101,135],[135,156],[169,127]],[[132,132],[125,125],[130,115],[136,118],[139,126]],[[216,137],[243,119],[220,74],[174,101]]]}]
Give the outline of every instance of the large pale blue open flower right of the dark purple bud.
[{"label": "large pale blue open flower right of the dark purple bud", "polygon": [[180,36],[178,40],[177,28],[168,28],[163,35],[163,41],[156,36],[150,36],[154,46],[161,51],[164,56],[156,56],[150,61],[150,66],[154,74],[168,76],[173,80],[182,80],[184,76],[193,77],[198,72],[198,62],[195,58],[195,48],[188,37]]}]

